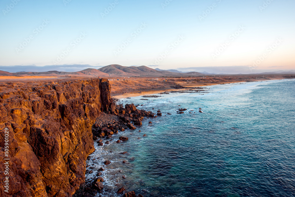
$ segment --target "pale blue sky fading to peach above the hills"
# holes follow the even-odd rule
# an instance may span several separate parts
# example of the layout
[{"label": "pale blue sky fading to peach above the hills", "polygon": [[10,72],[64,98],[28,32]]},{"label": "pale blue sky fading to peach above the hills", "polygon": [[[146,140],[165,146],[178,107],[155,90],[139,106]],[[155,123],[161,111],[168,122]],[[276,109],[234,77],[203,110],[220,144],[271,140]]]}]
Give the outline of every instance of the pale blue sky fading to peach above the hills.
[{"label": "pale blue sky fading to peach above the hills", "polygon": [[0,69],[294,70],[294,8],[294,0],[1,0]]}]

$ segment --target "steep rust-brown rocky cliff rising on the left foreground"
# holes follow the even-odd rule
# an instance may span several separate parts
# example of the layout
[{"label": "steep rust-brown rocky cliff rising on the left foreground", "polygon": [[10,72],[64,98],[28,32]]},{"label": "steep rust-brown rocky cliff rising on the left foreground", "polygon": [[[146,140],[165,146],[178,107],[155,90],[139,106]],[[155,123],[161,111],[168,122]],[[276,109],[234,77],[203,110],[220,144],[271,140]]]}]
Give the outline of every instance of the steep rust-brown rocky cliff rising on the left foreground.
[{"label": "steep rust-brown rocky cliff rising on the left foreground", "polygon": [[0,178],[3,184],[9,178],[9,193],[1,185],[1,195],[72,196],[84,183],[85,161],[94,152],[92,124],[101,111],[114,112],[108,80],[0,86]]}]

